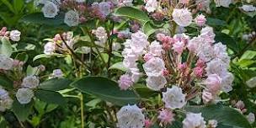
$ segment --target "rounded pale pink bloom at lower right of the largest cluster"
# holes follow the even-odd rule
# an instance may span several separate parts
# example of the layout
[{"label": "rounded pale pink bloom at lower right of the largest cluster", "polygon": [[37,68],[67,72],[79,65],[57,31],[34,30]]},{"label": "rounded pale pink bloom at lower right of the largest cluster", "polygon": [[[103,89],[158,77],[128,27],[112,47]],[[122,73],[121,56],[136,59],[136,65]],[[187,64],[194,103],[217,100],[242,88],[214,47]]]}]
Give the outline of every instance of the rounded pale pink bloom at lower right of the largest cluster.
[{"label": "rounded pale pink bloom at lower right of the largest cluster", "polygon": [[221,89],[221,77],[211,74],[206,78],[205,85],[209,92],[217,93]]}]

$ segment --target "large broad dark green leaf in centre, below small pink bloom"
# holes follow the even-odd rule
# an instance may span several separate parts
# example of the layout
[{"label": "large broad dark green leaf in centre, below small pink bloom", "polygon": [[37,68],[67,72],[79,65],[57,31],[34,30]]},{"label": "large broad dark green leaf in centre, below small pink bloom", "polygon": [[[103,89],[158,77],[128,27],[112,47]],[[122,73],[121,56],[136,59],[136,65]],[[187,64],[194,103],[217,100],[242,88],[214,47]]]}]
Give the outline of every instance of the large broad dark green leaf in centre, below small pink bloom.
[{"label": "large broad dark green leaf in centre, below small pink bloom", "polygon": [[131,90],[120,90],[118,83],[106,77],[83,77],[71,84],[83,93],[92,94],[99,99],[116,105],[136,104],[139,100]]}]

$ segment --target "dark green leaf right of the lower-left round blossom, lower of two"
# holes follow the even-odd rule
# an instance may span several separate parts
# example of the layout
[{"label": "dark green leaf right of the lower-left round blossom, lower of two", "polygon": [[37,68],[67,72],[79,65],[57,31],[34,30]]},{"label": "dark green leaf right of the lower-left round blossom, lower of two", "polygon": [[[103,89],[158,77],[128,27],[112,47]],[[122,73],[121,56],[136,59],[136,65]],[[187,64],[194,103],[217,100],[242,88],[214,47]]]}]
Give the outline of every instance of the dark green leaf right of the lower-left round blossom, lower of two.
[{"label": "dark green leaf right of the lower-left round blossom, lower of two", "polygon": [[66,104],[66,100],[64,97],[62,97],[61,93],[53,91],[39,89],[35,91],[35,97],[48,104]]}]

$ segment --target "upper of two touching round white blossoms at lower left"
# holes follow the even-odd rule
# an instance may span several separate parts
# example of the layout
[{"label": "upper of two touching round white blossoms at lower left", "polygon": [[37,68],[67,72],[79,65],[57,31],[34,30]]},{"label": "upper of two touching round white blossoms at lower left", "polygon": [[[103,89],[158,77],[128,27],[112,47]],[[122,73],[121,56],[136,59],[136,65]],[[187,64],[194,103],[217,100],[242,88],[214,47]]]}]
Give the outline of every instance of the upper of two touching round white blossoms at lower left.
[{"label": "upper of two touching round white blossoms at lower left", "polygon": [[27,76],[24,77],[21,86],[23,88],[36,88],[37,86],[39,86],[40,80],[38,77],[36,76]]}]

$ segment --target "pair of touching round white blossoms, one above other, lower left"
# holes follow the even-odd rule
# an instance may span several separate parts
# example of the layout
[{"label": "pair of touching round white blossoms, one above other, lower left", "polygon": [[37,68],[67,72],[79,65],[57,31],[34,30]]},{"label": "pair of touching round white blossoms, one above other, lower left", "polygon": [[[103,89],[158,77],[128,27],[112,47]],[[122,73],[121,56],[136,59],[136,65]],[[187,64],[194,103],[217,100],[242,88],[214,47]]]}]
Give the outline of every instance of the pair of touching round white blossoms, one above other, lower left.
[{"label": "pair of touching round white blossoms, one above other, lower left", "polygon": [[24,77],[21,87],[16,93],[16,98],[20,104],[29,104],[31,99],[34,97],[33,88],[37,88],[39,86],[40,80],[35,76],[27,76]]}]

